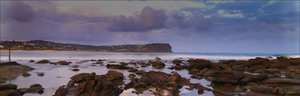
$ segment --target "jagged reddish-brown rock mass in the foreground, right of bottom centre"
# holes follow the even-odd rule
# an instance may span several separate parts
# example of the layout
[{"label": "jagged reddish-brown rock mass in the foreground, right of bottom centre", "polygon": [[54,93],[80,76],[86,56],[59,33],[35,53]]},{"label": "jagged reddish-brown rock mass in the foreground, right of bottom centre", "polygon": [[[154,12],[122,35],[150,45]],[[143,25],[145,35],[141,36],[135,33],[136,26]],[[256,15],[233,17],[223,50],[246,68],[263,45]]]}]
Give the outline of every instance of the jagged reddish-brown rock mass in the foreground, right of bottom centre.
[{"label": "jagged reddish-brown rock mass in the foreground, right of bottom centre", "polygon": [[161,71],[144,72],[140,78],[131,79],[131,82],[126,84],[125,89],[135,88],[138,91],[155,88],[157,95],[179,95],[179,89],[184,85],[198,89],[198,92],[203,93],[203,90],[211,91],[203,87],[199,83],[190,83],[187,78],[182,78],[175,71],[172,74],[166,74]]}]

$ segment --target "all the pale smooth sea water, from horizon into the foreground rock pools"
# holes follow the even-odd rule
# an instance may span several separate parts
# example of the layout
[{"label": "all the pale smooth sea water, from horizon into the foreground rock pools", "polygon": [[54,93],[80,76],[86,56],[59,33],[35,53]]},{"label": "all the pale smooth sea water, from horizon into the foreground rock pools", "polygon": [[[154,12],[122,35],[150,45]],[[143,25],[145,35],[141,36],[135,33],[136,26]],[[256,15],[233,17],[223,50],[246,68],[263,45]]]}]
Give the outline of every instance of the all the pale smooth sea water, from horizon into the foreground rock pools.
[{"label": "all the pale smooth sea water, from horizon into the foreground rock pools", "polygon": [[[7,55],[7,52],[1,52],[1,55]],[[149,60],[154,60],[155,57],[160,57],[163,62],[166,62],[166,67],[164,69],[155,69],[151,66],[148,67],[140,67],[139,70],[145,71],[163,71],[164,73],[171,74],[172,71],[167,69],[168,67],[174,66],[174,64],[170,63],[172,60],[181,57],[182,60],[188,60],[190,58],[202,58],[206,60],[210,60],[212,62],[217,62],[219,60],[248,60],[255,57],[266,57],[271,56],[276,58],[276,56],[287,56],[287,57],[299,57],[299,54],[269,54],[269,53],[101,53],[101,52],[11,52],[11,60],[16,61],[20,64],[25,64],[30,67],[34,67],[35,69],[32,71],[28,71],[32,76],[23,77],[18,76],[10,81],[6,81],[6,83],[13,83],[18,85],[18,88],[29,88],[30,85],[35,83],[40,83],[43,88],[45,88],[44,93],[42,95],[27,93],[24,96],[51,96],[54,95],[55,91],[59,86],[66,85],[68,81],[70,81],[70,77],[79,73],[92,73],[95,72],[98,75],[106,74],[108,70],[116,70],[122,72],[125,77],[125,83],[129,83],[130,80],[128,78],[129,74],[127,70],[123,69],[107,69],[106,66],[92,66],[93,62],[83,62],[78,64],[80,71],[71,71],[72,66],[76,64],[75,62],[80,62],[82,60],[103,60],[104,65],[107,64],[119,64],[119,62],[138,62],[144,61],[147,62]],[[51,62],[58,62],[61,60],[67,62],[73,62],[70,65],[54,65],[54,64],[35,64],[35,62],[28,62],[29,60],[35,60],[36,62],[39,60],[47,59]],[[1,57],[1,62],[8,61],[8,57]],[[109,61],[115,61],[116,63],[112,63]],[[132,65],[128,65],[129,67],[133,67]],[[43,72],[44,76],[37,76],[37,72]],[[176,71],[184,78],[190,78],[191,75],[188,74],[187,70]],[[59,78],[58,78],[59,77]],[[139,76],[138,76],[139,77]],[[206,81],[205,79],[196,79],[190,78],[191,83],[200,83],[201,85],[211,88],[210,81]],[[180,89],[179,95],[198,95],[198,90],[186,90],[187,86],[184,86]],[[212,88],[211,88],[212,89]],[[134,89],[124,90],[121,94],[122,96],[131,96],[136,95],[131,93]],[[152,89],[153,90],[153,89]],[[140,95],[152,95],[151,92],[145,91]],[[212,91],[204,91],[205,96],[213,95]]]}]

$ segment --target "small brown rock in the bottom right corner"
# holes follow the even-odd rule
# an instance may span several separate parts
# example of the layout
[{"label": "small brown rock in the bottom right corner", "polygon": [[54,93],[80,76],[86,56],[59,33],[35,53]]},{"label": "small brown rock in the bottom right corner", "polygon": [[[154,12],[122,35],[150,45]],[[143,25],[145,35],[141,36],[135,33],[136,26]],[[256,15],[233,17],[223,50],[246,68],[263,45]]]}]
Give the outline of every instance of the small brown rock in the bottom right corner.
[{"label": "small brown rock in the bottom right corner", "polygon": [[299,96],[300,95],[300,86],[296,85],[296,86],[288,86],[288,87],[284,87],[281,88],[278,91],[278,94],[280,95],[286,95],[286,96]]}]

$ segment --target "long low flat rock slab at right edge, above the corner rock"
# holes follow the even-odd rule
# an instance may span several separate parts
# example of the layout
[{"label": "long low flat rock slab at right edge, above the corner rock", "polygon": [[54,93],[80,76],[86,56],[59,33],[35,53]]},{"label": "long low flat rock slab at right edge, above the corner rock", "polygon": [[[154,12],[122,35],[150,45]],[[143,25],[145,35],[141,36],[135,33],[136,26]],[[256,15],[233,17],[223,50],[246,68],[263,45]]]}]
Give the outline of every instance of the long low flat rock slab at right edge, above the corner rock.
[{"label": "long low flat rock slab at right edge, above the corner rock", "polygon": [[300,80],[296,80],[296,79],[289,79],[289,78],[269,78],[265,81],[263,81],[263,83],[290,83],[290,84],[297,84],[300,85]]}]

